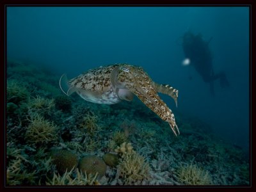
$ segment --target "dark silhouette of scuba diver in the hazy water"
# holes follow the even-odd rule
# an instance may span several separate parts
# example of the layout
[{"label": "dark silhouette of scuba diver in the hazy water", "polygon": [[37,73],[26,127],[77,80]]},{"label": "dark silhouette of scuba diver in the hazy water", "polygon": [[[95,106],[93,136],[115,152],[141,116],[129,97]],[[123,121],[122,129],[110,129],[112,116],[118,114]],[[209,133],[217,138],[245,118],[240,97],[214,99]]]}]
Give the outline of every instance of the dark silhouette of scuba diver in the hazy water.
[{"label": "dark silhouette of scuba diver in the hazy water", "polygon": [[209,43],[212,38],[206,42],[202,35],[194,35],[191,32],[186,32],[183,36],[182,47],[186,60],[195,67],[195,70],[202,76],[204,82],[210,84],[211,94],[214,95],[214,81],[220,79],[221,87],[229,87],[225,72],[214,74],[212,68],[212,54],[209,49]]}]

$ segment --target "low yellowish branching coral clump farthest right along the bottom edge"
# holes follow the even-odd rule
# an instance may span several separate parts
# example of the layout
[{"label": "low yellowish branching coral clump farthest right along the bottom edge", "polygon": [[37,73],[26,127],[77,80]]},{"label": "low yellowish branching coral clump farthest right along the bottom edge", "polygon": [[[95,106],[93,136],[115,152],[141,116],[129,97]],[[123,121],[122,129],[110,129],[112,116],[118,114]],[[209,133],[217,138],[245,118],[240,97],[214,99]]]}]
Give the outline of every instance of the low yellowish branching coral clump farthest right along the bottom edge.
[{"label": "low yellowish branching coral clump farthest right along the bottom edge", "polygon": [[199,168],[196,164],[180,166],[177,170],[179,182],[186,185],[209,185],[212,179],[209,172]]}]

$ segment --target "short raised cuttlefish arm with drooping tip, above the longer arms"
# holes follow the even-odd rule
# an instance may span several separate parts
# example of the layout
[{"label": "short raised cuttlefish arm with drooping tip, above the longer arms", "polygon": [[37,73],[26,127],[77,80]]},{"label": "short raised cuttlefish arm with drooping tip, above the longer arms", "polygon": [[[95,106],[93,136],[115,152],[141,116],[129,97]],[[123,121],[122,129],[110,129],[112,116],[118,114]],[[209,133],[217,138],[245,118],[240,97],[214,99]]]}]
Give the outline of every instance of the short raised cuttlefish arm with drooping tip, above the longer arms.
[{"label": "short raised cuttlefish arm with drooping tip, above the longer arms", "polygon": [[152,85],[154,86],[154,89],[156,92],[163,93],[166,95],[169,95],[172,97],[172,99],[175,101],[176,107],[178,106],[178,93],[179,91],[169,84],[157,84],[155,82],[152,82]]}]

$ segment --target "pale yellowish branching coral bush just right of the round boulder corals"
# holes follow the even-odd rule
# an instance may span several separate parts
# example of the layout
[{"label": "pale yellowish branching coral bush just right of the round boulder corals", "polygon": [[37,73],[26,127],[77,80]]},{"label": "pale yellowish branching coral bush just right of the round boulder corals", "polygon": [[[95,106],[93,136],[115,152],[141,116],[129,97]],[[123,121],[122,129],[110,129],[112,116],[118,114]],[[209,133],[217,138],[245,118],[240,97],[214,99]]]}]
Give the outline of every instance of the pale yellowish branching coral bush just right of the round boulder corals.
[{"label": "pale yellowish branching coral bush just right of the round boulder corals", "polygon": [[125,185],[141,182],[150,177],[150,166],[137,152],[125,154],[117,166],[117,175]]}]

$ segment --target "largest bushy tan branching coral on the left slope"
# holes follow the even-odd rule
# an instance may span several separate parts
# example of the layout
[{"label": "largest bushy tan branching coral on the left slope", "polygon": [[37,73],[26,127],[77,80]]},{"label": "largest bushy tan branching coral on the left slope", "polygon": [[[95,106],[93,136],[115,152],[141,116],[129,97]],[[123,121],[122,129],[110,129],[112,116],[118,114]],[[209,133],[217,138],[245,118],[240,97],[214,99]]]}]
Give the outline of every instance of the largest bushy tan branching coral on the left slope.
[{"label": "largest bushy tan branching coral on the left slope", "polygon": [[35,114],[29,119],[25,138],[29,143],[51,143],[57,140],[57,127],[45,120],[42,116]]}]

